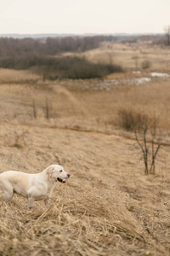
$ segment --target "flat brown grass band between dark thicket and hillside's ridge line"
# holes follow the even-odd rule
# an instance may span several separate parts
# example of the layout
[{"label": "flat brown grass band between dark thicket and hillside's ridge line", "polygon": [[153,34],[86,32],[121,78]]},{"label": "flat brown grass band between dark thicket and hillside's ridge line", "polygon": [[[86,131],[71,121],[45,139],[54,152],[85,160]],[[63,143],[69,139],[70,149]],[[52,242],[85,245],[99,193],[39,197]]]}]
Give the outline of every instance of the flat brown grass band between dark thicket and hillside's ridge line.
[{"label": "flat brown grass band between dark thicket and hillside's ridge line", "polygon": [[40,119],[46,122],[48,100],[49,125],[113,132],[119,124],[119,111],[127,108],[149,116],[156,115],[160,120],[159,127],[169,129],[168,80],[158,79],[140,86],[113,85],[108,91],[101,90],[95,83],[95,80],[74,83],[64,80],[49,84],[5,84],[1,86],[0,105],[4,111],[0,117],[30,123],[36,108],[37,123]]}]

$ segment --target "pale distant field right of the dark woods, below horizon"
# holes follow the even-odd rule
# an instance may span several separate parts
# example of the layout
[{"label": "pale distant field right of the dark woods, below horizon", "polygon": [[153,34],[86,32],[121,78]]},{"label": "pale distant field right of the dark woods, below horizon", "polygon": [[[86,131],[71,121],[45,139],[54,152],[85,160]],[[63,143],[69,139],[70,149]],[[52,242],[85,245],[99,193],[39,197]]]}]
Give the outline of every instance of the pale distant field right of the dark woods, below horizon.
[{"label": "pale distant field right of the dark woods, below horizon", "polygon": [[86,51],[82,55],[89,61],[113,63],[127,70],[142,69],[161,72],[170,70],[170,49],[144,42],[137,44],[103,43],[99,49]]}]

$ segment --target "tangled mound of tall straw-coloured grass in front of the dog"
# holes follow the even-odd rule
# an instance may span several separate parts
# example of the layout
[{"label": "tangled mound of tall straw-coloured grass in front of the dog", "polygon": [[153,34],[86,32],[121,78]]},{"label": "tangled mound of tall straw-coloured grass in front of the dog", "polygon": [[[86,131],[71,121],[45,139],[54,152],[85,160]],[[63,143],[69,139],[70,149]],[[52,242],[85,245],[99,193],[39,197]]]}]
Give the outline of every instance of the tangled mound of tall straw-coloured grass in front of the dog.
[{"label": "tangled mound of tall straw-coloured grass in front of the dog", "polygon": [[[20,199],[10,206],[1,202],[2,255],[123,255],[126,241],[127,253],[144,242],[149,247],[150,238],[123,204],[114,201],[113,207],[111,195],[105,201],[89,186],[86,192],[67,188],[62,196],[57,191],[49,207],[39,204],[33,212],[21,207],[26,204]],[[142,255],[145,248],[140,250]]]}]

